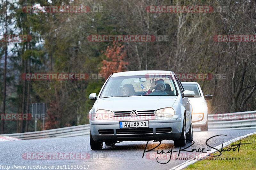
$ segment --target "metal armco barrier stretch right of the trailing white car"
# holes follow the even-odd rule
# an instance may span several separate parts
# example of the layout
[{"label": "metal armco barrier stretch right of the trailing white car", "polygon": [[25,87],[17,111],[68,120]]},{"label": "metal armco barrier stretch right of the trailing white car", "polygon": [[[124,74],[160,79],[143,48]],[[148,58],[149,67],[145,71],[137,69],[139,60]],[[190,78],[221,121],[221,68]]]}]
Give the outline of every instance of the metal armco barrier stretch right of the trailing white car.
[{"label": "metal armco barrier stretch right of the trailing white car", "polygon": [[256,110],[208,115],[208,129],[256,129]]}]

